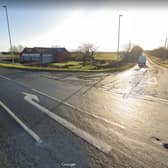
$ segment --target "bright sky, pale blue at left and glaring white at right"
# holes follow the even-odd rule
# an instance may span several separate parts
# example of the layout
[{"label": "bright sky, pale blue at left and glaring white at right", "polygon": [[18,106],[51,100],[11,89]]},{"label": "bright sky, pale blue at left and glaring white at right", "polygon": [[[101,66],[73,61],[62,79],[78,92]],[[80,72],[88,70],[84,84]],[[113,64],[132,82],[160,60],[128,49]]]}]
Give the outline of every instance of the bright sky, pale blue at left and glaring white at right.
[{"label": "bright sky, pale blue at left and glaring white at right", "polygon": [[[62,8],[8,5],[12,44],[27,47],[61,46],[77,49],[94,43],[101,51],[117,50],[118,16],[121,17],[120,48],[129,41],[144,49],[164,45],[168,35],[168,10],[164,7],[99,6]],[[0,50],[9,49],[6,16],[0,8]]]}]

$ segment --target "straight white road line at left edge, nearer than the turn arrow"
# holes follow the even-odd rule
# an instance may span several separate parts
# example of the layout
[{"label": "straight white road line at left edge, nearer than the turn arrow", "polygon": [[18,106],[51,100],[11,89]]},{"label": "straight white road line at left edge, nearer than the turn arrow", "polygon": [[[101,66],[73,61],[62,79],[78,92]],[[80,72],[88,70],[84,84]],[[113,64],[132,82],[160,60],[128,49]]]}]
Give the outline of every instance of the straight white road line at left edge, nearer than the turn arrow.
[{"label": "straight white road line at left edge, nearer than the turn arrow", "polygon": [[0,106],[5,109],[8,114],[37,142],[42,143],[40,137],[28,128],[2,101],[0,101]]}]

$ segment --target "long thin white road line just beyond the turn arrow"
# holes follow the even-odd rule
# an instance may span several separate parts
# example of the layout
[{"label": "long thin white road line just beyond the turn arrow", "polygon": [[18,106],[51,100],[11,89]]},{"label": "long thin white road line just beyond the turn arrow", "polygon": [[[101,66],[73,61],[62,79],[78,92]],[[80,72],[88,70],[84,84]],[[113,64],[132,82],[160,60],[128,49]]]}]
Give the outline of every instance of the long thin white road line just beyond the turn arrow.
[{"label": "long thin white road line just beyond the turn arrow", "polygon": [[54,101],[57,101],[57,102],[59,102],[59,103],[62,103],[62,104],[64,104],[64,105],[66,105],[66,106],[69,106],[69,107],[73,108],[74,110],[77,110],[77,111],[79,111],[79,112],[81,112],[81,113],[85,113],[85,114],[87,114],[87,115],[89,115],[89,116],[91,116],[91,117],[93,117],[93,118],[95,118],[95,119],[97,119],[97,120],[103,121],[103,122],[105,122],[105,123],[107,123],[107,124],[110,124],[110,125],[112,125],[112,126],[117,126],[117,127],[121,128],[121,129],[125,129],[125,127],[124,127],[123,125],[121,125],[121,124],[118,124],[118,123],[113,122],[113,121],[109,121],[109,120],[107,120],[107,119],[105,119],[105,118],[102,118],[102,117],[100,117],[100,116],[98,116],[98,115],[95,115],[95,114],[92,114],[92,113],[90,113],[90,112],[81,110],[80,108],[75,107],[74,105],[69,104],[68,102],[65,102],[65,101],[63,101],[63,100],[61,100],[61,99],[58,99],[58,98],[56,98],[56,97],[49,96],[48,94],[43,93],[43,92],[41,92],[41,91],[39,91],[39,90],[37,90],[37,89],[32,89],[32,91],[37,92],[37,93],[39,93],[39,94],[41,94],[41,95],[43,95],[43,96],[46,96],[46,97],[48,97],[48,98],[50,98],[50,99],[52,99],[52,100],[54,100]]}]

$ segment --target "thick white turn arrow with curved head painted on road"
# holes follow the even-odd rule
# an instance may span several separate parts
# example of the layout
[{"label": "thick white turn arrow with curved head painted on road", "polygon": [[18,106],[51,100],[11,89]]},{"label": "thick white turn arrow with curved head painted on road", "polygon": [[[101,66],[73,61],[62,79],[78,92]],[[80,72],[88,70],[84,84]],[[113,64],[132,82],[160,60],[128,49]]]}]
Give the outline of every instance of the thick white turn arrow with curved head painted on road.
[{"label": "thick white turn arrow with curved head painted on road", "polygon": [[81,130],[80,128],[77,128],[72,123],[68,122],[67,120],[61,118],[60,116],[50,112],[45,107],[34,102],[34,100],[39,102],[39,99],[36,95],[32,95],[32,94],[25,93],[25,92],[23,92],[23,94],[25,95],[24,96],[25,101],[27,101],[28,103],[30,103],[31,105],[33,105],[34,107],[36,107],[37,109],[39,109],[40,111],[48,115],[50,118],[52,118],[53,120],[55,120],[56,122],[64,126],[65,128],[69,129],[74,134],[78,135],[79,137],[81,137],[82,139],[90,143],[91,145],[95,146],[97,149],[101,150],[102,152],[106,154],[108,154],[111,151],[112,148],[107,143],[101,140],[98,140],[97,138],[93,137],[91,134],[85,132],[84,130]]}]

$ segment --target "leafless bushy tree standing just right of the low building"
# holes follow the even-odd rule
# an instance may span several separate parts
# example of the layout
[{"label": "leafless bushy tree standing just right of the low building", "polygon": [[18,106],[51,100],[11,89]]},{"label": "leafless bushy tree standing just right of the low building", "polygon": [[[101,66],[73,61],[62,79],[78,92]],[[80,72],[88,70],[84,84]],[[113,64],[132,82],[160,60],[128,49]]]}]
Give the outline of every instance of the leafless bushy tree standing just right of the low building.
[{"label": "leafless bushy tree standing just right of the low building", "polygon": [[82,61],[84,65],[86,64],[86,62],[94,61],[95,52],[97,50],[97,47],[94,44],[84,43],[79,46],[79,50],[82,55]]}]

